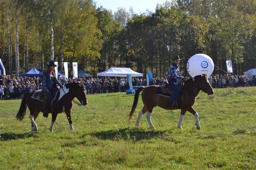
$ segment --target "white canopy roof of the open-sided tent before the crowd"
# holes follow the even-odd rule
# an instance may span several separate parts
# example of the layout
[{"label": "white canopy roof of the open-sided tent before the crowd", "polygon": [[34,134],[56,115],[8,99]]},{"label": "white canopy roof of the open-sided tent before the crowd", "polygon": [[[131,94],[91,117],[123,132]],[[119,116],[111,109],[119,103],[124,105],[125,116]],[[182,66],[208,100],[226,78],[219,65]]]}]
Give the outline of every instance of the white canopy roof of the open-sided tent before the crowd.
[{"label": "white canopy roof of the open-sided tent before the crowd", "polygon": [[131,76],[138,76],[142,77],[142,73],[135,72],[131,70],[130,68],[117,68],[117,67],[111,67],[110,69],[97,73],[97,76],[117,76],[117,77],[123,77],[127,76],[127,74],[131,74]]}]

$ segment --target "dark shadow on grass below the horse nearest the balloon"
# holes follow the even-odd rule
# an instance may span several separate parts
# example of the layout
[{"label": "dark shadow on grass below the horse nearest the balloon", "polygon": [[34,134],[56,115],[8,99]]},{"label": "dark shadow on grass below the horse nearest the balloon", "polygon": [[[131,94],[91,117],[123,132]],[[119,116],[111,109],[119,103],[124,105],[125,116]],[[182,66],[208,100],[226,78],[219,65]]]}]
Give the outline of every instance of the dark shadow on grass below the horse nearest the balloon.
[{"label": "dark shadow on grass below the horse nearest the balloon", "polygon": [[107,130],[101,131],[96,133],[89,133],[84,134],[82,137],[86,135],[95,136],[101,140],[134,140],[139,141],[143,139],[157,139],[163,137],[165,133],[170,133],[165,131],[158,131],[158,130],[141,130],[141,129],[130,129],[130,128],[123,128],[118,130]]}]

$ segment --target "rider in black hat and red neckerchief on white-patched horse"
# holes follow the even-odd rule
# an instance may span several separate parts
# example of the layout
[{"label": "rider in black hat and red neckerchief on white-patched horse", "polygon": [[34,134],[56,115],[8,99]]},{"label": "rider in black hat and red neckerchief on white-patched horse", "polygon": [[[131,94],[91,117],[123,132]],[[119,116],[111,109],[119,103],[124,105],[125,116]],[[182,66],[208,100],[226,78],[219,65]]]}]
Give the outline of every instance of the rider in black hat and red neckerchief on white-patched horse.
[{"label": "rider in black hat and red neckerchief on white-patched horse", "polygon": [[47,70],[44,71],[43,73],[43,79],[42,79],[42,86],[43,86],[43,95],[44,95],[44,104],[42,107],[43,116],[48,117],[48,112],[49,112],[49,106],[50,106],[50,101],[51,101],[51,92],[53,88],[56,88],[57,85],[60,87],[62,84],[59,82],[57,79],[55,73],[54,73],[54,68],[56,65],[54,64],[53,61],[50,61],[49,64],[47,65]]}]

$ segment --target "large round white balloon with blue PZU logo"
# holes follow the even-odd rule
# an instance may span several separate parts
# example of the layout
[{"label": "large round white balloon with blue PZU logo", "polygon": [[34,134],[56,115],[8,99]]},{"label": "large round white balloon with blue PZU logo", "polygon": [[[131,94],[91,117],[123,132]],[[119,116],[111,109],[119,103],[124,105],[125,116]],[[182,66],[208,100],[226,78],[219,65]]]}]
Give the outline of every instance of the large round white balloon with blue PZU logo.
[{"label": "large round white balloon with blue PZU logo", "polygon": [[214,69],[214,63],[206,54],[195,54],[187,61],[187,72],[191,77],[207,74],[210,77]]}]

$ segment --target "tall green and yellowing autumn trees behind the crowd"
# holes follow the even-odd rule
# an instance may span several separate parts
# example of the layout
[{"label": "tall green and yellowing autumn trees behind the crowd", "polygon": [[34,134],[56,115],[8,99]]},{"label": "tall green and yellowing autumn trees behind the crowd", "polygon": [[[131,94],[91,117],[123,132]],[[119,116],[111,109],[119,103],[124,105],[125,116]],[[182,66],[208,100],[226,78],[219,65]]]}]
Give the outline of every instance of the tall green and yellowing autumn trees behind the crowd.
[{"label": "tall green and yellowing autumn trees behind the crowd", "polygon": [[49,60],[78,62],[96,76],[110,67],[167,75],[179,55],[181,72],[194,54],[206,54],[213,74],[255,68],[256,0],[172,0],[137,14],[97,7],[93,0],[0,0],[0,53],[6,73],[20,75]]}]

